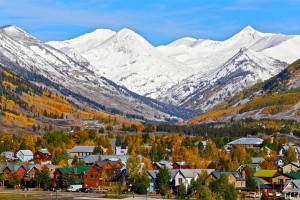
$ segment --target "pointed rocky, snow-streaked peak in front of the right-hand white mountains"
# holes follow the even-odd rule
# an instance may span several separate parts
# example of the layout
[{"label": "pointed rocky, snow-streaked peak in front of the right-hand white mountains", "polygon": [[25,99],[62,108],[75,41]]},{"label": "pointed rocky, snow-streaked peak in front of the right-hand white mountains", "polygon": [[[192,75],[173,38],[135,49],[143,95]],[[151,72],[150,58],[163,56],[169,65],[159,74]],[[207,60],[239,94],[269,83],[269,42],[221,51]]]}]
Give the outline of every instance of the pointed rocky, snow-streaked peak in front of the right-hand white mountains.
[{"label": "pointed rocky, snow-streaked peak in front of the right-hand white mountains", "polygon": [[287,65],[242,48],[225,64],[185,79],[161,97],[184,107],[207,110],[226,97],[278,74]]}]

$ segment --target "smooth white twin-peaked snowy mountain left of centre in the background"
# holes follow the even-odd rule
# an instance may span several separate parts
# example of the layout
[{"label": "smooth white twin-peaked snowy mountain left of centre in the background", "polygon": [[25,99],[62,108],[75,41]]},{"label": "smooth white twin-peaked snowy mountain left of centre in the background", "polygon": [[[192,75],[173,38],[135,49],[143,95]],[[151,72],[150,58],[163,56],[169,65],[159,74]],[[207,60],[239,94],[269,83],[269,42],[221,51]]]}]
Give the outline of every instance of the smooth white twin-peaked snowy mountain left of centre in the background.
[{"label": "smooth white twin-peaked snowy mountain left of centre in the background", "polygon": [[177,84],[190,73],[184,64],[164,56],[137,33],[96,30],[78,38],[49,42],[68,54],[74,49],[103,75],[128,89],[152,98]]}]

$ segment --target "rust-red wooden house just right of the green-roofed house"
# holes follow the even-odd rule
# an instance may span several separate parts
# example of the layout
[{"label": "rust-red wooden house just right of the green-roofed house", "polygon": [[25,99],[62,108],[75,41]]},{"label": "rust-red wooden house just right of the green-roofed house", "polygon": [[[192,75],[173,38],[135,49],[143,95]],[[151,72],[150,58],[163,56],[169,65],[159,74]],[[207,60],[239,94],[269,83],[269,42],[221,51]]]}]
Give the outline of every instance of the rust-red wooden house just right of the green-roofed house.
[{"label": "rust-red wooden house just right of the green-roofed house", "polygon": [[85,173],[84,187],[98,188],[107,181],[112,181],[120,174],[122,163],[118,161],[99,161]]}]

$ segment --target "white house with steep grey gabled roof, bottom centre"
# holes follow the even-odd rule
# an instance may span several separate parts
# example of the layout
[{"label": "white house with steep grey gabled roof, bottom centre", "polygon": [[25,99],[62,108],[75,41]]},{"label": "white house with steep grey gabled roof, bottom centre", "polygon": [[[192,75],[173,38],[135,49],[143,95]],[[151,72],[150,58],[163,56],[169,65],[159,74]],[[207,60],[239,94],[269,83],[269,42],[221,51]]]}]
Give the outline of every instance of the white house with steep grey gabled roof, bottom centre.
[{"label": "white house with steep grey gabled roof, bottom centre", "polygon": [[180,169],[175,177],[175,183],[174,186],[178,187],[180,184],[184,184],[186,190],[188,186],[191,184],[192,179],[197,180],[199,177],[199,174],[202,172],[206,172],[207,174],[210,174],[211,172],[215,171],[214,169]]}]

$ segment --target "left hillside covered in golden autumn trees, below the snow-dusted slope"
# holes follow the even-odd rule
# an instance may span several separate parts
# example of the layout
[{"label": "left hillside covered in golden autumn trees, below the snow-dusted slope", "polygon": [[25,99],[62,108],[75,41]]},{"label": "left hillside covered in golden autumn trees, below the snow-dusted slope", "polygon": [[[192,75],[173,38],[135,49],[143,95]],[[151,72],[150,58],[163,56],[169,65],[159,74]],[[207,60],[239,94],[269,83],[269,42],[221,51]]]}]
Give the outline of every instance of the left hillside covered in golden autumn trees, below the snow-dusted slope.
[{"label": "left hillside covered in golden autumn trees, below the snow-dusted slope", "polygon": [[[74,103],[66,97],[28,82],[0,65],[0,130],[12,133],[36,132],[47,129],[71,130],[83,120],[97,119],[107,123],[108,114],[96,111],[82,102]],[[119,121],[123,117],[113,116]]]}]

